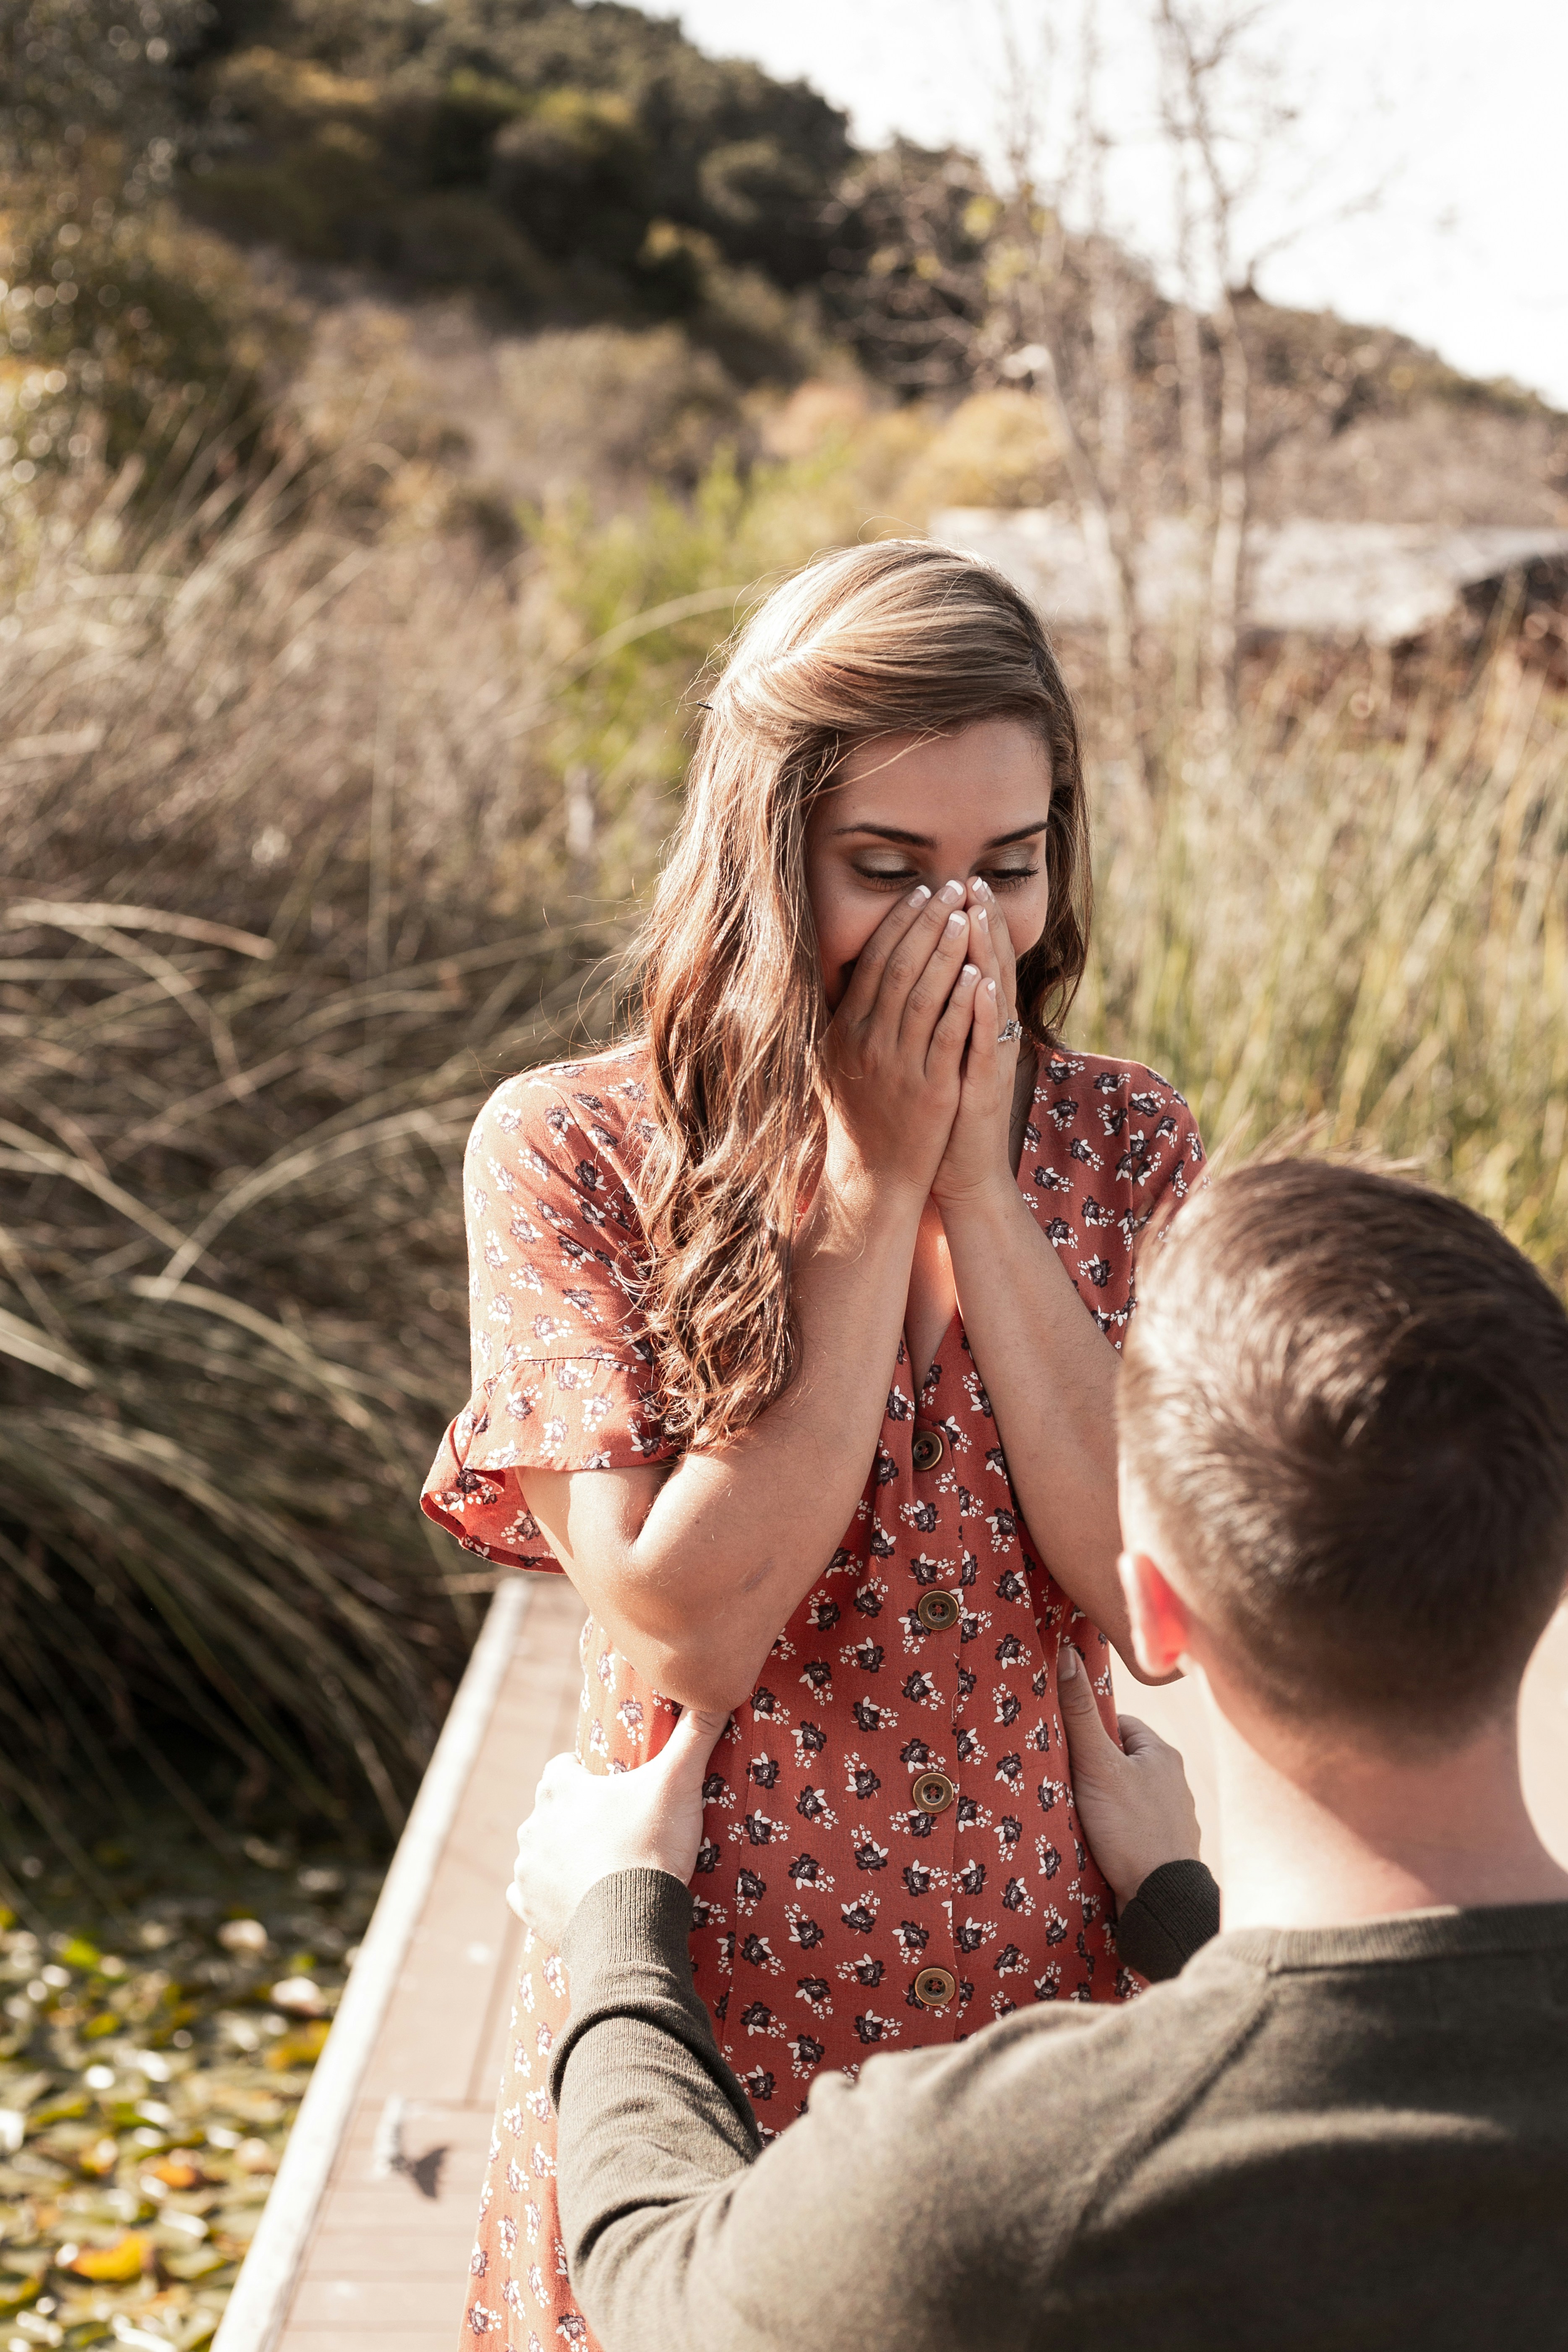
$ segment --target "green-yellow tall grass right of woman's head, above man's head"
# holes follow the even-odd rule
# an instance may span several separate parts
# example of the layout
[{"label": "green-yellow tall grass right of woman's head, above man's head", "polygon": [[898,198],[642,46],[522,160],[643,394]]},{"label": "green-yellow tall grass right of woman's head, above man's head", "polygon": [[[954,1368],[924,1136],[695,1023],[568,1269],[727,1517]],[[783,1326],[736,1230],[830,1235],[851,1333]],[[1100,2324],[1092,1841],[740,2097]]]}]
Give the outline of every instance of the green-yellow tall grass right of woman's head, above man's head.
[{"label": "green-yellow tall grass right of woman's head, above man's head", "polygon": [[1566,1284],[1561,699],[1507,647],[1396,729],[1293,675],[1103,807],[1074,1035],[1166,1068],[1211,1143],[1309,1127],[1415,1162]]}]

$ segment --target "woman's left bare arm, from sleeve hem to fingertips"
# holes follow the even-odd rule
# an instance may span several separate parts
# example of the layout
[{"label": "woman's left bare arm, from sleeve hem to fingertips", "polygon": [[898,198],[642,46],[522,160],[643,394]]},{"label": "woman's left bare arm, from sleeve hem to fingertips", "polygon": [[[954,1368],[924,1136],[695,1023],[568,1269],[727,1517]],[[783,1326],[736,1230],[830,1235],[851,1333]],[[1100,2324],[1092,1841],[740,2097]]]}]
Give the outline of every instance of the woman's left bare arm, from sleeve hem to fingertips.
[{"label": "woman's left bare arm, from sleeve hem to fingertips", "polygon": [[799,1369],[741,1437],[661,1470],[522,1472],[574,1585],[658,1691],[731,1710],[820,1578],[877,1449],[910,1263],[978,983],[926,891],[867,943],[827,1037],[827,1164],[795,1251]]}]

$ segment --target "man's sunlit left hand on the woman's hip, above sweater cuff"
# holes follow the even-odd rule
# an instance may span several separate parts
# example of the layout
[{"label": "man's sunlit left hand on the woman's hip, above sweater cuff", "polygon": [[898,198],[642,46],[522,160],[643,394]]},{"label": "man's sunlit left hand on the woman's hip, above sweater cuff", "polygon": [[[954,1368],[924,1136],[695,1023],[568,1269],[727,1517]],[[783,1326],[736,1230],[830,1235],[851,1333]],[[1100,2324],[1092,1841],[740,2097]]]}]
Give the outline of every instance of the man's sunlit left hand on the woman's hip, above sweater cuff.
[{"label": "man's sunlit left hand on the woman's hip, above sweater cuff", "polygon": [[686,1710],[637,1771],[590,1773],[576,1757],[550,1757],[517,1830],[505,1900],[552,1952],[588,1889],[611,1870],[668,1870],[686,1884],[703,1842],[708,1757],[726,1722]]}]

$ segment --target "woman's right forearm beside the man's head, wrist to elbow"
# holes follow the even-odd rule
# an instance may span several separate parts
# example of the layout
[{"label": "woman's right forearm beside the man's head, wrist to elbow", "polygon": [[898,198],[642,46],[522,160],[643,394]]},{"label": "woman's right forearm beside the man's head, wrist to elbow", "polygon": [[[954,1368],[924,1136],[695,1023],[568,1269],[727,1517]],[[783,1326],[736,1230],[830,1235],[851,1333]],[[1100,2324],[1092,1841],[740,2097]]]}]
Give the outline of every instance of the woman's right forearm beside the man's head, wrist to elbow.
[{"label": "woman's right forearm beside the man's head, wrist to elbow", "polygon": [[1046,1566],[1131,1658],[1117,1578],[1117,1371],[1011,1171],[943,1202],[964,1331]]}]

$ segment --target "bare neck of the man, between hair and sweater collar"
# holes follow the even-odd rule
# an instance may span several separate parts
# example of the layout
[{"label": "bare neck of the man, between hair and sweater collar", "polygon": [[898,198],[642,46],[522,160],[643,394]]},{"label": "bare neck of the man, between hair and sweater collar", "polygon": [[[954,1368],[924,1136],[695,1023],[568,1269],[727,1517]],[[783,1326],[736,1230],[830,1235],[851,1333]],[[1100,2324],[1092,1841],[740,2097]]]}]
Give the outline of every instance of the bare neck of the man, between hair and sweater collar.
[{"label": "bare neck of the man, between hair and sweater collar", "polygon": [[1305,1736],[1227,1691],[1208,1712],[1227,1929],[1568,1900],[1526,1811],[1512,1710],[1436,1757]]}]

